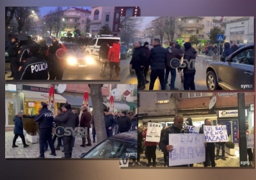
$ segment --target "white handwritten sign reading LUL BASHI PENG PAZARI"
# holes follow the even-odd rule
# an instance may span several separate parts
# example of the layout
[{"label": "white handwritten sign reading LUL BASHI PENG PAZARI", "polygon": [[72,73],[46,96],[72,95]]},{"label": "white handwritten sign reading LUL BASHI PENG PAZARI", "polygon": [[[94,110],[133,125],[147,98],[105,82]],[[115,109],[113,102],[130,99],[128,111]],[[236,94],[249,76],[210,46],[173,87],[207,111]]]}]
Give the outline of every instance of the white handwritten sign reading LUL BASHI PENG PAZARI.
[{"label": "white handwritten sign reading LUL BASHI PENG PAZARI", "polygon": [[204,126],[205,142],[228,142],[227,127]]}]

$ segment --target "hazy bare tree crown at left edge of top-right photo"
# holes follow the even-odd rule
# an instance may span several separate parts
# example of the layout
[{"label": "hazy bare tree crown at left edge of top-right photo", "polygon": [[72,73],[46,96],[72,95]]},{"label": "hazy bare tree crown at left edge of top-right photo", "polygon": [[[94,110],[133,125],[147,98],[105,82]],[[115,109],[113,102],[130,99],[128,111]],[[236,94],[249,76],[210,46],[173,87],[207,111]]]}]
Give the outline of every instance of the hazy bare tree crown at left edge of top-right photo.
[{"label": "hazy bare tree crown at left edge of top-right photo", "polygon": [[120,38],[126,45],[129,44],[131,38],[136,36],[143,17],[121,17],[120,20]]}]

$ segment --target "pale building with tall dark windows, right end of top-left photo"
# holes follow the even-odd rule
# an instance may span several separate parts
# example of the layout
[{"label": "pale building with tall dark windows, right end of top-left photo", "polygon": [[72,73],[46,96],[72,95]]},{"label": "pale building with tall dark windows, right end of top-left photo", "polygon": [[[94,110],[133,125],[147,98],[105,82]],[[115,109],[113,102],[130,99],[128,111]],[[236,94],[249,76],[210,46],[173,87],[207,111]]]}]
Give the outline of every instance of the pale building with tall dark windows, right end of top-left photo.
[{"label": "pale building with tall dark windows, right end of top-left photo", "polygon": [[102,26],[113,27],[115,7],[93,6],[90,23],[90,34],[97,37]]}]

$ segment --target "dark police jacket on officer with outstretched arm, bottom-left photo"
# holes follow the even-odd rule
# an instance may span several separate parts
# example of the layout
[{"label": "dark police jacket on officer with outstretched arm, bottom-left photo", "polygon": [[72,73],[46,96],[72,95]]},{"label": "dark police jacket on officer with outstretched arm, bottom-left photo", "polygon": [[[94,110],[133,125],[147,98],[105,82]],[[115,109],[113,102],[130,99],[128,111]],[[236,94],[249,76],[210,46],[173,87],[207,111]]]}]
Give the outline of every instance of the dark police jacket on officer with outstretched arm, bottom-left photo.
[{"label": "dark police jacket on officer with outstretched arm, bottom-left photo", "polygon": [[38,126],[40,129],[52,128],[53,120],[53,113],[47,108],[42,108],[39,114],[35,117],[35,121],[38,122]]}]

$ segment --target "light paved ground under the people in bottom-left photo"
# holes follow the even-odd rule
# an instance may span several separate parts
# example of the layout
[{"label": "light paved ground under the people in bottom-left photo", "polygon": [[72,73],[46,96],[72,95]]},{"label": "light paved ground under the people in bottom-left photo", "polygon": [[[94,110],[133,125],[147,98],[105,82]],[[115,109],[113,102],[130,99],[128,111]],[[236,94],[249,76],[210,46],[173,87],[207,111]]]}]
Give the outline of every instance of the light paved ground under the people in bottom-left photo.
[{"label": "light paved ground under the people in bottom-left photo", "polygon": [[[90,132],[90,137],[92,139],[92,131]],[[27,144],[29,144],[29,147],[23,148],[23,144],[21,142],[21,139],[17,139],[16,145],[19,147],[12,147],[12,140],[13,140],[13,131],[6,131],[5,132],[5,158],[36,158],[39,154],[39,140],[36,144],[31,144],[27,140]],[[87,143],[87,141],[86,141]],[[97,145],[97,139],[96,142],[92,142],[92,146],[86,146],[81,147],[82,139],[77,138],[75,141],[75,146],[73,147],[72,151],[72,158],[80,158],[82,153],[88,152],[90,149],[92,149],[94,146]],[[57,145],[57,140],[54,144],[54,147]],[[51,149],[48,147],[48,151],[45,152],[45,158],[61,158],[64,153],[62,153],[63,147],[60,147],[61,151],[56,151],[57,156],[51,156],[49,153],[51,153]]]}]

